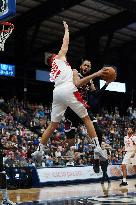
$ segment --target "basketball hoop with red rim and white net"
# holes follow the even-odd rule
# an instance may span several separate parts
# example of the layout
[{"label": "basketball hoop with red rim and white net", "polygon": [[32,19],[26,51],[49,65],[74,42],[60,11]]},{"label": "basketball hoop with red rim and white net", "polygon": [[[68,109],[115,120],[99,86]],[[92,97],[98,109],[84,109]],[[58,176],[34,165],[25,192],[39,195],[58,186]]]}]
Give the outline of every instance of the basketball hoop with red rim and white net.
[{"label": "basketball hoop with red rim and white net", "polygon": [[14,25],[9,22],[0,22],[0,51],[4,51],[4,44],[14,29]]}]

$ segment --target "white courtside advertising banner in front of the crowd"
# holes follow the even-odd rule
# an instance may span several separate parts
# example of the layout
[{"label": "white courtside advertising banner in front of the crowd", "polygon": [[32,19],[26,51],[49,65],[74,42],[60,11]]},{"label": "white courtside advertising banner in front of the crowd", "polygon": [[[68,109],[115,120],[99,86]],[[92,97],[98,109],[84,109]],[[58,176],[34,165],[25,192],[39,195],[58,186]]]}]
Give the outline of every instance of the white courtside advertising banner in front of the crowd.
[{"label": "white courtside advertising banner in front of the crowd", "polygon": [[[43,168],[37,169],[40,183],[74,181],[99,179],[102,177],[102,171],[95,173],[92,166],[86,167],[64,167],[64,168]],[[128,176],[134,175],[133,167],[128,167]],[[122,172],[120,165],[108,166],[109,177],[121,177]]]}]

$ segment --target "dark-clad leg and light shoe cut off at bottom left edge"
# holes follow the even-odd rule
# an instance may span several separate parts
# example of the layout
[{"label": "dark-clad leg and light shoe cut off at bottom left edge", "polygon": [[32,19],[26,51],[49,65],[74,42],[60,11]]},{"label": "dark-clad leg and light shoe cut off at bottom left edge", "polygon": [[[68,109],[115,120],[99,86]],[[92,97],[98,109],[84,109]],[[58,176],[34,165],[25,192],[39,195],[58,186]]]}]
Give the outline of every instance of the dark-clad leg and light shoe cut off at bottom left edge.
[{"label": "dark-clad leg and light shoe cut off at bottom left edge", "polygon": [[0,192],[2,192],[2,202],[1,205],[15,205],[16,203],[13,203],[9,200],[8,192],[7,192],[7,180],[6,180],[6,174],[4,172],[4,166],[3,166],[3,144],[1,143],[0,139]]}]

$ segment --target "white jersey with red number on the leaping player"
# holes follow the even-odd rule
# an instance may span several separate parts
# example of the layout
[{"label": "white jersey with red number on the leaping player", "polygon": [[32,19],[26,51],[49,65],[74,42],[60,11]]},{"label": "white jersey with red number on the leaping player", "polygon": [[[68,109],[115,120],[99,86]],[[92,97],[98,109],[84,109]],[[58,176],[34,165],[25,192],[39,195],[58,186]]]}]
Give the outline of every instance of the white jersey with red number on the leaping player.
[{"label": "white jersey with red number on the leaping player", "polygon": [[59,85],[71,85],[76,88],[73,83],[73,71],[71,66],[60,59],[55,59],[52,63],[50,81],[55,82],[55,88]]}]

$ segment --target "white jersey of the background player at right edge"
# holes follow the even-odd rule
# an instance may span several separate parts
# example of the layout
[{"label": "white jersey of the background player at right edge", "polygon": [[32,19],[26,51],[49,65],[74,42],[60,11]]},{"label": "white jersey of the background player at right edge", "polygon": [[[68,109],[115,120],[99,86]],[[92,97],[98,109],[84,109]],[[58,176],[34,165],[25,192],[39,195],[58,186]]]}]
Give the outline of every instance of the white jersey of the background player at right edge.
[{"label": "white jersey of the background player at right edge", "polygon": [[136,146],[136,136],[132,135],[131,137],[124,137],[125,151],[133,152]]}]

